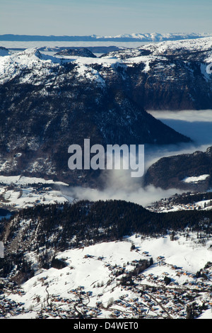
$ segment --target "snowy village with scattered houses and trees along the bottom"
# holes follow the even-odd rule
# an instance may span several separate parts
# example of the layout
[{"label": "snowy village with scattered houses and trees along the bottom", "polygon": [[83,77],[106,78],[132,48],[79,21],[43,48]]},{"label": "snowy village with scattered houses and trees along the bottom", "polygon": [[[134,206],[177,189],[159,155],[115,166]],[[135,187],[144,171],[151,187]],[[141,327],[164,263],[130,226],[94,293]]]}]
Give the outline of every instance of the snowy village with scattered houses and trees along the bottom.
[{"label": "snowy village with scattered houses and trees along the bottom", "polygon": [[[148,252],[142,254],[149,256]],[[110,270],[110,281],[93,284],[90,290],[77,286],[67,290],[63,297],[51,294],[48,278],[40,278],[36,283],[45,288],[45,300],[35,295],[30,307],[26,307],[24,301],[21,302],[25,295],[23,288],[1,279],[0,317],[187,319],[199,317],[204,310],[212,312],[212,263],[194,274],[167,264],[164,256],[158,256],[152,266],[156,271],[160,268],[159,276],[151,273],[151,267],[134,274],[143,260],[131,261],[127,269],[104,263],[100,256],[86,254],[84,259],[102,261]],[[107,302],[106,294],[111,294]],[[14,300],[15,295],[20,301]],[[119,296],[114,298],[114,295]]]}]

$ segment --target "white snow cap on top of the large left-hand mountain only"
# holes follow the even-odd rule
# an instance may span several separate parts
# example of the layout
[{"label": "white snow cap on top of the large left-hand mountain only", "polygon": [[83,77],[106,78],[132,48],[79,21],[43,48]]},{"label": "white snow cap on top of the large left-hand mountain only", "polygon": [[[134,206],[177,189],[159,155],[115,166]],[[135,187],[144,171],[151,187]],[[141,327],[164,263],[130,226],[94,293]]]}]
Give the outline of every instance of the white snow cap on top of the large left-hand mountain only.
[{"label": "white snow cap on top of the large left-hand mountain only", "polygon": [[102,60],[93,57],[79,56],[57,56],[44,55],[37,48],[28,49],[6,57],[0,57],[0,84],[18,77],[25,70],[30,72],[20,78],[20,83],[40,84],[42,80],[52,77],[52,71],[59,70],[59,65],[65,62],[77,64],[76,70],[78,75],[94,80],[97,83],[104,84],[98,71],[92,68],[93,64],[100,64],[103,67],[114,67],[119,60]]}]

